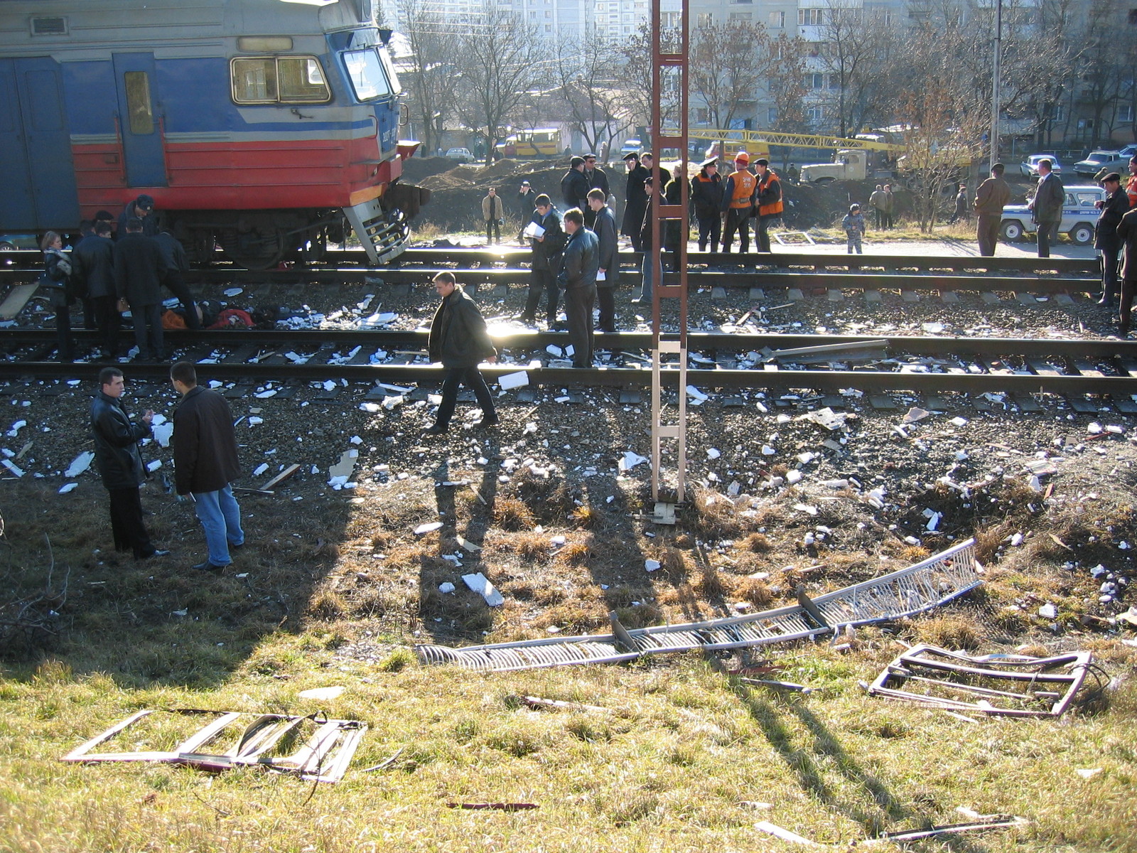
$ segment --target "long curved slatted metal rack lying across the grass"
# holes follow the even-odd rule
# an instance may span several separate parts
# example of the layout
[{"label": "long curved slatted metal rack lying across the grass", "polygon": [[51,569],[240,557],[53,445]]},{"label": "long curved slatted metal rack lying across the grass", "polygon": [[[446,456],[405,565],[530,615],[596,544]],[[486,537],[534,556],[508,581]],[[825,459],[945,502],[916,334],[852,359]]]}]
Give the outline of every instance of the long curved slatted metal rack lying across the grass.
[{"label": "long curved slatted metal rack lying across the grass", "polygon": [[836,632],[845,626],[887,622],[921,613],[979,586],[974,539],[875,580],[810,598],[798,587],[796,606],[655,628],[624,628],[611,614],[612,633],[498,643],[488,646],[417,645],[423,663],[456,663],[472,670],[617,663],[640,655],[690,649],[725,649],[786,643]]}]

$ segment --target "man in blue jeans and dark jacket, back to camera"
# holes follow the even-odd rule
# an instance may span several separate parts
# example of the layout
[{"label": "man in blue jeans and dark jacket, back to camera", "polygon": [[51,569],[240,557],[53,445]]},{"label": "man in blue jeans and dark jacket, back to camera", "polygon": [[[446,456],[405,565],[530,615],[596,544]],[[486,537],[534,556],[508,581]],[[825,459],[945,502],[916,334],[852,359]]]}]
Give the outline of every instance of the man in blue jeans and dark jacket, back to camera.
[{"label": "man in blue jeans and dark jacket, back to camera", "polygon": [[197,371],[189,362],[171,367],[169,381],[182,395],[174,409],[174,486],[179,495],[193,498],[209,548],[208,560],[193,568],[219,572],[233,562],[230,547],[244,545],[241,507],[230,486],[241,473],[233,413],[219,394],[198,387]]}]

